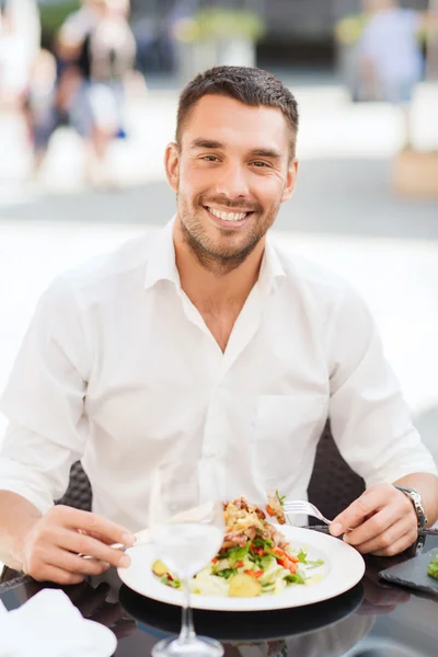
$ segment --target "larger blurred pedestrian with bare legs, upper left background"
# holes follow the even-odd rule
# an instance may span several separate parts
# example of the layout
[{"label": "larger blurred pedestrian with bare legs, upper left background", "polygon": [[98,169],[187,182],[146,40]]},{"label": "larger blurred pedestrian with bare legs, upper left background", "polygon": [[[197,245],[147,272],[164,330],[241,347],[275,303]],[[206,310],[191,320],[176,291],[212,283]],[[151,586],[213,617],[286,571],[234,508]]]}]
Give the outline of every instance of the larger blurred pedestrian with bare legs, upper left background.
[{"label": "larger blurred pedestrian with bare legs, upper left background", "polygon": [[[47,67],[41,62],[47,73],[43,111],[35,112],[31,102],[31,114],[36,118],[36,170],[42,164],[51,134],[59,125],[69,123],[85,141],[85,181],[91,184],[111,182],[105,173],[107,147],[123,132],[124,84],[132,71],[136,56],[128,13],[128,0],[85,0],[61,26],[55,47],[55,93],[50,91]],[[41,99],[38,94],[36,97]]]}]

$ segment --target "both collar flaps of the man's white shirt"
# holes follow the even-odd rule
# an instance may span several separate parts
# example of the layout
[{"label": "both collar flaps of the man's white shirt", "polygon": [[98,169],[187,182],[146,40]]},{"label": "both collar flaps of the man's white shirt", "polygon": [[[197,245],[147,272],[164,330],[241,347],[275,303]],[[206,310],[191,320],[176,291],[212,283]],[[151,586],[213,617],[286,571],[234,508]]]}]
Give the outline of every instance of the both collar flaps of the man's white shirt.
[{"label": "both collar flaps of the man's white shirt", "polygon": [[[175,262],[175,246],[173,243],[173,228],[175,217],[157,233],[157,239],[150,245],[151,254],[148,258],[145,277],[145,288],[149,289],[159,280],[170,280],[177,288],[181,287],[180,274]],[[278,253],[266,238],[265,253],[263,255],[258,283],[263,289],[270,290],[280,278],[286,276]]]}]

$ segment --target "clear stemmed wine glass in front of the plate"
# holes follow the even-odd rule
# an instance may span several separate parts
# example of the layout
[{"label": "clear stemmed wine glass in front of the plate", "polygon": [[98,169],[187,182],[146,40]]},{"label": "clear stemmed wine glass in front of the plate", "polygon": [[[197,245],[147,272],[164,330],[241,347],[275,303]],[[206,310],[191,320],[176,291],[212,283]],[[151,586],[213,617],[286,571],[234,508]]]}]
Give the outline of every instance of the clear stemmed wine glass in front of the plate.
[{"label": "clear stemmed wine glass in front of the plate", "polygon": [[196,636],[189,580],[219,552],[223,542],[223,505],[211,466],[205,462],[162,463],[152,474],[150,529],[157,558],[177,576],[183,590],[183,618],[176,638],[158,643],[152,657],[221,657],[217,641]]}]

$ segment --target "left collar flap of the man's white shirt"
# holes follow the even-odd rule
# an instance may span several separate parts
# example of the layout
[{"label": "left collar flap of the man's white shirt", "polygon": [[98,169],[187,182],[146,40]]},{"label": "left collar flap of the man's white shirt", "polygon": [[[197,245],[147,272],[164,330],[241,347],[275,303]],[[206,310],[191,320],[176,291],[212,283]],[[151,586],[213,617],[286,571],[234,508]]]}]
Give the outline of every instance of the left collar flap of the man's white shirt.
[{"label": "left collar flap of the man's white shirt", "polygon": [[173,243],[174,223],[175,217],[158,231],[155,239],[150,243],[150,255],[146,265],[145,276],[146,289],[153,287],[159,280],[170,280],[177,288],[181,287]]}]

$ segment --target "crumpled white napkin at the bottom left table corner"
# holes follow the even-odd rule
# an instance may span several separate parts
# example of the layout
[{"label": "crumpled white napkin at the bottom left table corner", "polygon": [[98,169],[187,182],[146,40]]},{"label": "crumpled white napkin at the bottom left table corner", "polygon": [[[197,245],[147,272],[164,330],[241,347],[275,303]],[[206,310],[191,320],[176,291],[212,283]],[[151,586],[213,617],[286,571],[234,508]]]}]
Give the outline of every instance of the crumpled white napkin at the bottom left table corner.
[{"label": "crumpled white napkin at the bottom left table corner", "polygon": [[0,608],[0,657],[99,655],[93,625],[64,591],[44,589],[19,609]]}]

